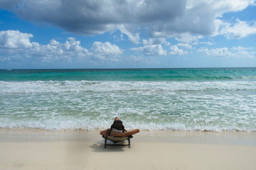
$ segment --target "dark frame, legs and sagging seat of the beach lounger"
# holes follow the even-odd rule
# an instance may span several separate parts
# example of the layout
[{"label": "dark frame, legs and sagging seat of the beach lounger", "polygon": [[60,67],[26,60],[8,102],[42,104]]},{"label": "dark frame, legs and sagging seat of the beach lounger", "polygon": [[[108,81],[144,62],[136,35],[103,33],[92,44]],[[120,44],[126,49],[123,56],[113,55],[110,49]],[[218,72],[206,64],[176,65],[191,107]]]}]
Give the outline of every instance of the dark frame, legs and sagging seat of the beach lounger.
[{"label": "dark frame, legs and sagging seat of the beach lounger", "polygon": [[[102,136],[105,139],[105,148],[107,145],[109,146],[129,146],[131,147],[131,140],[132,136],[127,136],[127,137],[117,137],[117,136]],[[114,142],[114,144],[107,144],[107,140],[110,140],[111,142]],[[120,142],[124,142],[125,140],[128,140],[128,144],[116,144]]]}]

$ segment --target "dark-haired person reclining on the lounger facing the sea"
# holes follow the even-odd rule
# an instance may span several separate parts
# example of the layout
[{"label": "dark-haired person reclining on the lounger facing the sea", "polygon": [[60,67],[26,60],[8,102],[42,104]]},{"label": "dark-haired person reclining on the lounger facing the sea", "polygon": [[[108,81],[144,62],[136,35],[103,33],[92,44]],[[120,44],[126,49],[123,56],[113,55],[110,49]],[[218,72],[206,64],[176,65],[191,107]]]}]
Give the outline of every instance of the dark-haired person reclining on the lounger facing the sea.
[{"label": "dark-haired person reclining on the lounger facing the sea", "polygon": [[139,132],[139,129],[127,130],[124,129],[124,125],[119,118],[114,118],[114,123],[111,125],[110,129],[102,130],[100,135],[102,136],[117,136],[117,137],[127,137],[134,135],[135,133]]}]

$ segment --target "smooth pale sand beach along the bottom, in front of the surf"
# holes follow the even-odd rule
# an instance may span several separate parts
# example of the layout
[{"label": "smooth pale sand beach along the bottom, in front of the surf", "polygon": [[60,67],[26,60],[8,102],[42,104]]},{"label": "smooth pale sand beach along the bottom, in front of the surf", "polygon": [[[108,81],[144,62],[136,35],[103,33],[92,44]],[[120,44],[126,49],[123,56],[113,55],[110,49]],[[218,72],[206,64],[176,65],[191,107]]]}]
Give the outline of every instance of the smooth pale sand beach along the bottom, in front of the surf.
[{"label": "smooth pale sand beach along the bottom, in front of the surf", "polygon": [[142,131],[104,148],[99,131],[0,130],[0,169],[256,169],[255,132]]}]

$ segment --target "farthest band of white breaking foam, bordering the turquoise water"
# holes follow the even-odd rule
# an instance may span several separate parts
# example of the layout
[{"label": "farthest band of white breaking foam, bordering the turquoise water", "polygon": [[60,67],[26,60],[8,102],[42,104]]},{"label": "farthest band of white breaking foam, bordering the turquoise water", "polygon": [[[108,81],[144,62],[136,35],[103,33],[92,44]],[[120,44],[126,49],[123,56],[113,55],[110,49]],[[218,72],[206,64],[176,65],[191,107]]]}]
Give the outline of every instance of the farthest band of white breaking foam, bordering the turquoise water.
[{"label": "farthest band of white breaking foam, bordering the turquoise water", "polygon": [[253,91],[256,81],[0,81],[0,94],[104,91]]}]

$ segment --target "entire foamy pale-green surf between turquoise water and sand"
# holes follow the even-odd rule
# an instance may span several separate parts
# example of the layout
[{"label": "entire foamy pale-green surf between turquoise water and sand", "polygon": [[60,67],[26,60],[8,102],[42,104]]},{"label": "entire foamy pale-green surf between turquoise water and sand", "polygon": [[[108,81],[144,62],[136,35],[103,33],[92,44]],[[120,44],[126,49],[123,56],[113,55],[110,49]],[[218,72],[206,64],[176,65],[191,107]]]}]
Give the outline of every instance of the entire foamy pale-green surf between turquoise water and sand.
[{"label": "entire foamy pale-green surf between turquoise water and sand", "polygon": [[255,81],[0,81],[0,128],[256,131]]}]

